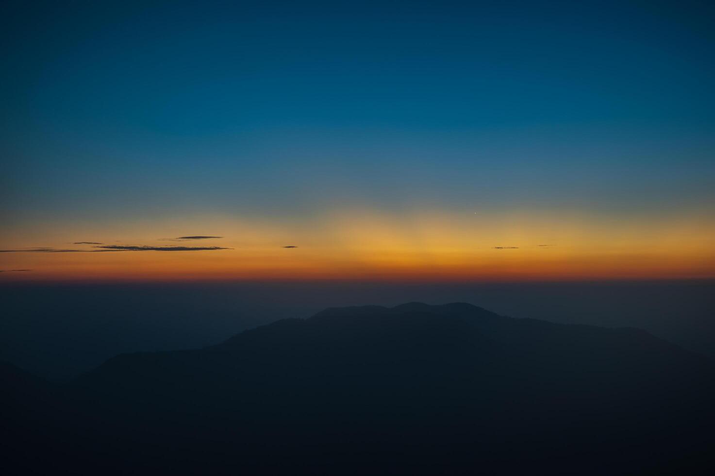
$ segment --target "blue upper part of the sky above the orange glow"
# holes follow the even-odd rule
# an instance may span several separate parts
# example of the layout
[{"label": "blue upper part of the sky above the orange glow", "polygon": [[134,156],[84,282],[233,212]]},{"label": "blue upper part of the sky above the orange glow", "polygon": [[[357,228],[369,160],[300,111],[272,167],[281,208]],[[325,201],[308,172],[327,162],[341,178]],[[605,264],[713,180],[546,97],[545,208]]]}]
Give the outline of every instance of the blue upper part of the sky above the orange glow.
[{"label": "blue upper part of the sky above the orange glow", "polygon": [[18,2],[2,213],[711,210],[708,2]]}]

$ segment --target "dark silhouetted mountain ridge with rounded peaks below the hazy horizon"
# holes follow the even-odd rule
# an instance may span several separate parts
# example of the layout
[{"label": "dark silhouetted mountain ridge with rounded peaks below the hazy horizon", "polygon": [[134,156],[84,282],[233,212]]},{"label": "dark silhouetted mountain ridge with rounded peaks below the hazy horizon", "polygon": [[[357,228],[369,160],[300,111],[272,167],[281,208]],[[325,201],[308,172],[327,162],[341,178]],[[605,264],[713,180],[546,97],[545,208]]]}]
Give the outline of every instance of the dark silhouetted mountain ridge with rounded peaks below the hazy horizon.
[{"label": "dark silhouetted mountain ridge with rounded peaks below the hazy horizon", "polygon": [[74,474],[710,474],[714,377],[638,329],[465,303],[326,309],[123,354],[61,391],[13,377],[34,409],[12,452]]}]

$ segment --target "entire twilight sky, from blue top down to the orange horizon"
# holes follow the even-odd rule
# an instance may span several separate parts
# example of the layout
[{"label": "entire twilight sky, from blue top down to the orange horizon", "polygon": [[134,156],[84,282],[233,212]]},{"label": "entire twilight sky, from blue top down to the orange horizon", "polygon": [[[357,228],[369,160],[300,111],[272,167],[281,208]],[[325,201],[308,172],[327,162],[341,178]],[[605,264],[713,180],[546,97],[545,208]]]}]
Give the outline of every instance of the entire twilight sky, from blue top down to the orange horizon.
[{"label": "entire twilight sky, from blue top down to the orange horizon", "polygon": [[1,16],[0,282],[715,277],[709,2]]}]

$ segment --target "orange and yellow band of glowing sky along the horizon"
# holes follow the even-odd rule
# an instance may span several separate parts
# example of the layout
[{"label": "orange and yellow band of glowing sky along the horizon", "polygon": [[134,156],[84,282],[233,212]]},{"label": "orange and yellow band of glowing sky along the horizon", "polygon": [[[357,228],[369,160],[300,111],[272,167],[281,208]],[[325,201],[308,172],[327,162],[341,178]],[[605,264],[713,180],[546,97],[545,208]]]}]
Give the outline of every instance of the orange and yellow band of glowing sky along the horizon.
[{"label": "orange and yellow band of glowing sky along the horizon", "polygon": [[[352,210],[312,220],[199,217],[122,224],[126,245],[222,246],[219,251],[1,253],[0,281],[576,281],[715,277],[715,225],[692,216],[650,221],[603,217],[465,217],[438,210],[395,216]],[[2,249],[117,243],[117,230],[73,225],[52,243],[15,235]],[[157,241],[189,230],[225,238]],[[126,233],[130,230],[131,233]],[[41,233],[36,233],[40,236]],[[137,238],[139,237],[139,238]],[[144,238],[141,238],[144,237]],[[119,243],[118,243],[119,244]],[[297,248],[282,248],[295,245]],[[545,246],[546,245],[546,246]],[[503,247],[497,249],[496,247]],[[510,248],[514,247],[514,248]]]}]

